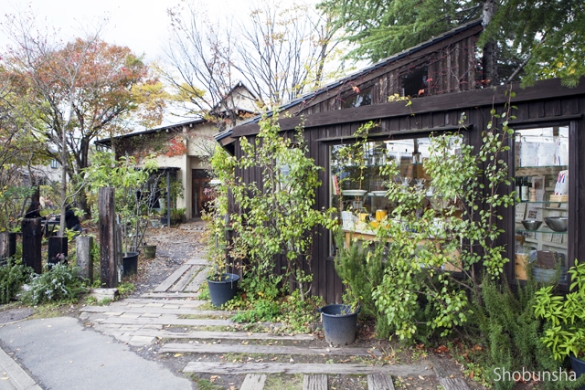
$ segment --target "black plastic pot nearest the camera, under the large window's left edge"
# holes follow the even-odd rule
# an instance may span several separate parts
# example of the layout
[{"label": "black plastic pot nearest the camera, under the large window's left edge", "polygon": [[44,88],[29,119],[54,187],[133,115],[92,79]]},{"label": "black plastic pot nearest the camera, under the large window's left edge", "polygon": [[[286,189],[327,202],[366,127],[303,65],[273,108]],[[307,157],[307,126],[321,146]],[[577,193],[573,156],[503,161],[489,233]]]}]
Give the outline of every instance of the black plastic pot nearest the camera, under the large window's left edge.
[{"label": "black plastic pot nearest the camera, under the large window's left edge", "polygon": [[357,313],[351,311],[349,305],[327,305],[319,309],[325,342],[331,345],[346,345],[354,343],[357,331]]}]

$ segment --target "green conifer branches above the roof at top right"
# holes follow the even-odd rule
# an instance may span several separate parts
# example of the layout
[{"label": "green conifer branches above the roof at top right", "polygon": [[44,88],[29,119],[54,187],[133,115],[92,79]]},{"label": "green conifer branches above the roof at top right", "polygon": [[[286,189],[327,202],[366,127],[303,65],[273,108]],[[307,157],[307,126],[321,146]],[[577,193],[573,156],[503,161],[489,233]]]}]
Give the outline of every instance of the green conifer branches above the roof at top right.
[{"label": "green conifer branches above the roof at top right", "polygon": [[356,44],[352,58],[376,62],[481,17],[486,84],[559,77],[575,86],[585,75],[585,0],[324,0],[320,6],[335,13]]}]

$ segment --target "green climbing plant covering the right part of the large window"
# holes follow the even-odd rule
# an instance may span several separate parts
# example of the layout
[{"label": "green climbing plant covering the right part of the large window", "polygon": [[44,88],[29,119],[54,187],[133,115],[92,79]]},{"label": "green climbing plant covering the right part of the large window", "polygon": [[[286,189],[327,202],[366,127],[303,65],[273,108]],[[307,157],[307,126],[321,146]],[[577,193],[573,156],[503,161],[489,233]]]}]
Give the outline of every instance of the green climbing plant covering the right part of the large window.
[{"label": "green climbing plant covering the right part of the large window", "polygon": [[507,123],[511,108],[508,102],[505,112],[492,110],[477,151],[463,132],[431,135],[430,158],[423,162],[431,196],[392,180],[397,163],[383,170],[387,196],[397,206],[378,229],[376,250],[387,251],[388,260],[373,296],[401,339],[458,329],[473,312],[470,297],[481,300],[482,279],[503,274],[508,259],[495,242],[503,232],[498,208],[516,201],[515,193],[503,191],[511,183],[504,158],[514,135]]}]

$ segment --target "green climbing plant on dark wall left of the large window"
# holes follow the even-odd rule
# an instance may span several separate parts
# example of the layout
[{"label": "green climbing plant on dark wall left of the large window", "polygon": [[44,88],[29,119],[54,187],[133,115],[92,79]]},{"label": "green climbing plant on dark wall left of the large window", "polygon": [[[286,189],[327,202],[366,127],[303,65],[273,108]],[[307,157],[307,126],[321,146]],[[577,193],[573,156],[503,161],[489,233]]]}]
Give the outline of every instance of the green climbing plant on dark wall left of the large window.
[{"label": "green climbing plant on dark wall left of the large window", "polygon": [[230,162],[236,170],[254,170],[256,182],[240,176],[230,185],[239,213],[231,221],[235,257],[250,260],[256,278],[270,276],[274,257],[286,260],[284,274],[296,283],[302,300],[312,286],[312,248],[318,225],[333,227],[333,209],[316,210],[315,190],[321,185],[314,160],[307,157],[303,128],[284,136],[275,119],[264,117],[253,142],[240,138],[241,157]]}]

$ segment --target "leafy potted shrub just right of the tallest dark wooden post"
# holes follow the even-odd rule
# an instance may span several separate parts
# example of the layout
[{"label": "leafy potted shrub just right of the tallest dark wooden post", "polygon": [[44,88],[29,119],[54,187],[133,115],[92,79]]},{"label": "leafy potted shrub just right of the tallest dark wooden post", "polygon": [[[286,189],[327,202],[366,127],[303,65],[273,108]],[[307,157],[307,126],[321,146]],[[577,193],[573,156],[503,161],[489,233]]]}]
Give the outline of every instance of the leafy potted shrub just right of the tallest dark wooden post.
[{"label": "leafy potted shrub just right of the tallest dark wooden post", "polygon": [[[122,229],[122,268],[124,275],[138,269],[139,248],[144,246],[146,229],[151,225],[156,190],[162,174],[156,174],[154,158],[144,159],[138,166],[133,156],[114,161],[112,153],[96,153],[94,163],[86,171],[91,189],[115,188],[115,209]],[[95,213],[97,215],[97,213]]]}]

